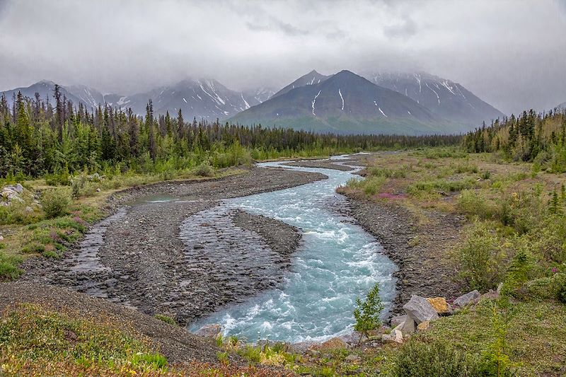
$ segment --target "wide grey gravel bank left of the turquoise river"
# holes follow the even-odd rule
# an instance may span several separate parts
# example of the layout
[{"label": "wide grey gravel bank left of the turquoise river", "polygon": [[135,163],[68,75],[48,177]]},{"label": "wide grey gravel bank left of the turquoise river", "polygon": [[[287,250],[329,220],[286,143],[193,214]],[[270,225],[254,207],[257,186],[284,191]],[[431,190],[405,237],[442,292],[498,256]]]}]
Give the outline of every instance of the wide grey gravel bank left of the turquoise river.
[{"label": "wide grey gravel bank left of the turquoise river", "polygon": [[[255,229],[243,237],[253,216],[244,219],[237,211],[218,210],[221,200],[324,178],[317,173],[252,168],[218,180],[162,182],[118,192],[110,199],[112,207],[138,203],[126,207],[104,229],[93,228],[92,236],[103,232],[104,238],[96,253],[84,253],[93,246],[87,243],[69,250],[62,259],[30,258],[23,264],[21,279],[69,286],[186,324],[227,303],[241,302],[277,286],[289,254],[299,244],[296,231],[273,219],[254,219],[251,226]],[[171,201],[161,202],[163,196]],[[201,217],[195,218],[196,214]],[[233,223],[233,216],[243,228]],[[190,239],[183,240],[180,226],[185,219],[192,219],[194,224],[185,224]],[[277,244],[274,238],[270,241],[261,236],[275,228],[281,231],[273,237],[284,237],[284,242]],[[92,237],[87,233],[85,239]],[[245,244],[238,243],[243,239]],[[249,252],[251,249],[255,255]],[[282,257],[274,259],[274,251]],[[261,262],[261,255],[265,255],[264,261],[270,261],[269,273],[252,270],[254,265],[249,262],[254,258]],[[85,264],[88,268],[81,268]]]}]

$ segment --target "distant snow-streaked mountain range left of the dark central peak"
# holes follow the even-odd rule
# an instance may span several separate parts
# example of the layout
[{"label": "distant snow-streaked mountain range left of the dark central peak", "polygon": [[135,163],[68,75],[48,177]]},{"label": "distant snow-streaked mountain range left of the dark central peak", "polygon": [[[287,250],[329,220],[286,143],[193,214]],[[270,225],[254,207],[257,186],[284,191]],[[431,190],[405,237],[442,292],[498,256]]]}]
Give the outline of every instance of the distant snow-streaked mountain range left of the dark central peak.
[{"label": "distant snow-streaked mountain range left of the dark central peak", "polygon": [[[11,103],[13,93],[21,91],[24,96],[30,98],[34,98],[36,92],[40,93],[42,99],[50,98],[50,102],[54,104],[54,87],[53,81],[44,80],[26,88],[16,88],[2,93],[6,95],[8,103]],[[259,88],[243,93],[232,91],[216,80],[191,79],[134,95],[103,95],[100,91],[83,85],[61,86],[61,93],[75,105],[83,103],[87,108],[96,108],[99,104],[108,103],[115,108],[132,108],[135,114],[145,115],[146,105],[151,99],[155,114],[165,114],[168,111],[171,115],[176,115],[181,109],[185,119],[196,117],[197,119],[216,120],[219,118],[224,120],[253,105],[262,103],[274,92],[267,88]]]}]

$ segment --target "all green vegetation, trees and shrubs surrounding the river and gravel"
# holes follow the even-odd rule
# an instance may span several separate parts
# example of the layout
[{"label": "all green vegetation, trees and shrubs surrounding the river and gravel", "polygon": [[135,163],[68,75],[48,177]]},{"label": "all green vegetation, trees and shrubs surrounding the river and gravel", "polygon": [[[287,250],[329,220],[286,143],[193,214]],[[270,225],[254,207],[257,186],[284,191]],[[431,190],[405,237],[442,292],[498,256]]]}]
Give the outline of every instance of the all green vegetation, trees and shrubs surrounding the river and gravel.
[{"label": "all green vegetation, trees and shrubs surrounding the river and gravel", "polygon": [[[364,311],[367,297],[359,301],[357,312],[361,335],[369,335],[360,347],[337,342],[303,354],[287,344],[250,345],[236,337],[218,337],[219,364],[189,366],[169,365],[158,349],[131,329],[37,306],[16,306],[2,313],[2,373],[566,373],[563,113],[526,112],[461,138],[338,137],[218,122],[186,123],[182,115],[176,120],[155,119],[151,104],[144,120],[108,108],[88,113],[69,110],[64,101],[56,108],[38,102],[21,98],[8,110],[0,104],[1,183],[23,185],[21,202],[11,200],[9,206],[0,207],[3,280],[15,279],[18,264],[29,255],[62,255],[88,224],[103,216],[105,199],[123,187],[241,173],[238,166],[253,159],[408,149],[374,155],[364,170],[366,179],[352,180],[339,191],[408,209],[417,219],[415,245],[432,245],[427,234],[419,233],[432,212],[465,218],[454,245],[438,250],[439,262],[453,266],[451,284],[484,295],[477,303],[435,320],[429,329],[415,332],[403,344],[377,341],[375,345],[375,335],[386,330],[374,316],[379,313],[378,298],[374,297],[372,310]],[[165,316],[160,319],[172,322]],[[231,354],[243,358],[244,365],[231,361]]]}]

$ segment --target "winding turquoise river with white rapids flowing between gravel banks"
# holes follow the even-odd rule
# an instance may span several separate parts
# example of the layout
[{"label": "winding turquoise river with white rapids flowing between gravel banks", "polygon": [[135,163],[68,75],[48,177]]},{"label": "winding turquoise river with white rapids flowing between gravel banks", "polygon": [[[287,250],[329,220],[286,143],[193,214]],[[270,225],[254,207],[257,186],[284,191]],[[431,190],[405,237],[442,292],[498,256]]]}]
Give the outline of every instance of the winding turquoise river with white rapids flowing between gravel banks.
[{"label": "winding turquoise river with white rapids flowing between gravel banks", "polygon": [[396,266],[383,255],[375,238],[341,213],[347,202],[335,192],[337,186],[358,176],[352,171],[282,166],[282,162],[260,166],[323,173],[328,180],[224,200],[224,207],[296,226],[303,240],[277,289],[226,306],[192,323],[189,330],[219,323],[225,336],[248,342],[320,342],[352,331],[354,301],[375,283],[387,311],[395,297]]}]

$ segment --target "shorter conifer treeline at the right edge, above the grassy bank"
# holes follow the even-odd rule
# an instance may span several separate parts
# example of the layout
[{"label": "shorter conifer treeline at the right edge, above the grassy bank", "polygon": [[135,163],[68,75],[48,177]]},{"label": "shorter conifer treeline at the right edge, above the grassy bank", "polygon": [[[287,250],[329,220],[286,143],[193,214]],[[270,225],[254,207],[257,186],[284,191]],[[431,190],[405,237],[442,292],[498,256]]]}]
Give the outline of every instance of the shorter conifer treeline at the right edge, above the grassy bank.
[{"label": "shorter conifer treeline at the right edge, above the grassy bank", "polygon": [[514,161],[531,161],[538,167],[566,172],[566,110],[524,111],[495,120],[463,137],[470,152],[502,151]]}]

